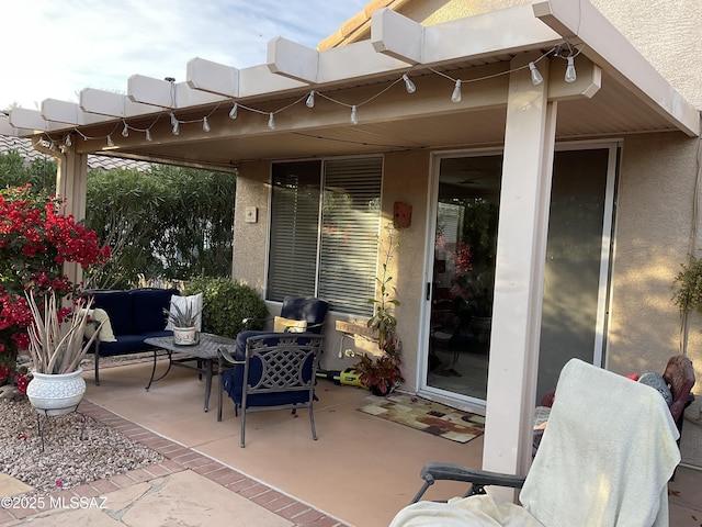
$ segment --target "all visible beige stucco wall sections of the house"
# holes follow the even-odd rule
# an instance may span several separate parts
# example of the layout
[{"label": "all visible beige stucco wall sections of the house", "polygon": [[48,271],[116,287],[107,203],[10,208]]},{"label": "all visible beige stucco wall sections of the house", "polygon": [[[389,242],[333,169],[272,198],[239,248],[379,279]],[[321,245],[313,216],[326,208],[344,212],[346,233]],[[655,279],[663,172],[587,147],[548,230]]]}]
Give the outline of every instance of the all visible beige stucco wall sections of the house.
[{"label": "all visible beige stucco wall sections of the house", "polygon": [[[529,1],[494,0],[484,2],[433,1],[407,2],[403,14],[426,25],[502,9]],[[695,82],[699,69],[695,57],[702,46],[699,27],[702,9],[691,9],[686,1],[652,2],[633,0],[622,4],[610,0],[592,2],[638,51],[698,108],[702,89]],[[702,74],[702,71],[700,72]],[[680,352],[681,321],[671,302],[672,282],[679,265],[688,258],[694,228],[694,201],[700,167],[699,139],[682,133],[641,134],[608,137],[621,144],[618,180],[615,233],[611,268],[609,333],[604,366],[619,373],[661,371],[669,356]],[[268,164],[239,167],[234,276],[261,289],[264,284],[267,197],[261,182],[267,181]],[[431,153],[386,154],[384,156],[383,216],[392,217],[393,203],[414,206],[412,224],[400,233],[396,254],[395,287],[400,305],[396,314],[403,337],[405,389],[418,389],[418,358],[426,335],[421,330],[422,295],[426,292],[427,214]],[[259,224],[242,221],[247,206],[259,208]],[[692,238],[691,238],[692,237]],[[257,244],[258,240],[258,244]],[[275,305],[272,305],[272,311]],[[327,327],[328,345],[322,366],[342,370],[354,359],[339,357],[339,339],[331,314]],[[363,323],[364,321],[360,321]],[[683,350],[702,379],[702,317],[690,316],[688,346]],[[353,345],[344,341],[341,347]],[[363,344],[359,346],[361,350]],[[702,382],[695,386],[698,401],[688,410],[683,435],[683,461],[702,466]]]}]

